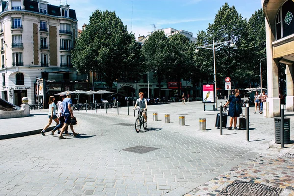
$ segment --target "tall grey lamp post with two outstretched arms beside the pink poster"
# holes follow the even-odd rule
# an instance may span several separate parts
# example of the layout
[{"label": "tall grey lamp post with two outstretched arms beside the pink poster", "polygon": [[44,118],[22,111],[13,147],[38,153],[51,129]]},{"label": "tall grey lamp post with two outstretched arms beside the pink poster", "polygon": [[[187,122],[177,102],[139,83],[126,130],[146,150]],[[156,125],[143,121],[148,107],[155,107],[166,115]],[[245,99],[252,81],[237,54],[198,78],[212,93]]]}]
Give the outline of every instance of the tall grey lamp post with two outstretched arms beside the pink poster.
[{"label": "tall grey lamp post with two outstretched arms beside the pink poster", "polygon": [[[229,45],[230,48],[234,48],[236,46],[232,40],[215,43],[214,42],[214,39],[213,39],[212,40],[212,44],[206,44],[206,45],[203,45],[203,46],[196,46],[196,49],[195,49],[195,53],[198,53],[199,52],[198,48],[212,49],[213,50],[213,70],[214,70],[214,85],[215,85],[215,100],[216,100],[215,110],[218,110],[217,75],[216,75],[215,50],[218,49],[218,48],[220,48],[221,46],[227,44],[227,43],[230,43],[230,45]],[[219,46],[216,47],[216,45],[219,45]]]}]

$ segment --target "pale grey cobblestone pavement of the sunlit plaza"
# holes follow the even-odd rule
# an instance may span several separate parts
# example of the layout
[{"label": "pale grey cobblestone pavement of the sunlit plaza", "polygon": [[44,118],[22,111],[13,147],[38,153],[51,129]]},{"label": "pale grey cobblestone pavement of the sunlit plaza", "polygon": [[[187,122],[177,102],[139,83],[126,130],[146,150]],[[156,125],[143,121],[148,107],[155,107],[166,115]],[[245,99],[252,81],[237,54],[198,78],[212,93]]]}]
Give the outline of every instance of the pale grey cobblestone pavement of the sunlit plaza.
[{"label": "pale grey cobblestone pavement of the sunlit plaza", "polygon": [[[152,121],[153,112],[159,121]],[[149,106],[147,130],[140,133],[132,110],[130,116],[126,108],[119,115],[116,109],[74,111],[79,137],[0,140],[0,196],[216,195],[235,179],[293,194],[293,158],[280,157],[292,154],[292,144],[281,150],[273,142],[273,119],[250,112],[247,142],[246,130],[224,129],[221,136],[214,127],[217,111],[203,111],[199,102]],[[171,123],[164,123],[165,113]],[[185,126],[179,126],[179,115]],[[206,118],[206,131],[199,131],[199,118]],[[136,146],[157,149],[123,150]]]}]

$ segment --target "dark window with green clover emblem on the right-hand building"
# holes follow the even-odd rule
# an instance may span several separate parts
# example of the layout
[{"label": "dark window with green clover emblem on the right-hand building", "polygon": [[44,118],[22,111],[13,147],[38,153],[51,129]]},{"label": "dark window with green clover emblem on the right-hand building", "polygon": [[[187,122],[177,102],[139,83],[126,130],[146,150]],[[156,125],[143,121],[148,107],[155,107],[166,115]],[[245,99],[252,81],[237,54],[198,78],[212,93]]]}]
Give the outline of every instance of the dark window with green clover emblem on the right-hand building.
[{"label": "dark window with green clover emblem on the right-hand building", "polygon": [[294,2],[286,1],[276,16],[276,40],[294,34]]}]

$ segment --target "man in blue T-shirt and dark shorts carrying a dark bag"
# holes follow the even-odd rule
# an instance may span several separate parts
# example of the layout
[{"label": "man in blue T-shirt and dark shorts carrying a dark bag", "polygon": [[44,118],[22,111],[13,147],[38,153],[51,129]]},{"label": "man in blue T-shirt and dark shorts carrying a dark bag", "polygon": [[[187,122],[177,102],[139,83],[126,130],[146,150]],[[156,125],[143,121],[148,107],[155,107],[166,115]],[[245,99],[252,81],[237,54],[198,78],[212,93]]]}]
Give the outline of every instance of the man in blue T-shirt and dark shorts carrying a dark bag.
[{"label": "man in blue T-shirt and dark shorts carrying a dark bag", "polygon": [[71,99],[71,93],[68,91],[66,92],[66,98],[62,101],[62,107],[63,107],[63,114],[64,114],[64,125],[61,129],[61,132],[59,134],[59,139],[65,139],[65,137],[62,136],[65,129],[70,126],[71,131],[73,132],[73,136],[78,136],[78,133],[75,133],[73,130],[73,125],[71,123],[71,118],[74,118],[73,116],[73,110],[72,110],[72,99]]}]

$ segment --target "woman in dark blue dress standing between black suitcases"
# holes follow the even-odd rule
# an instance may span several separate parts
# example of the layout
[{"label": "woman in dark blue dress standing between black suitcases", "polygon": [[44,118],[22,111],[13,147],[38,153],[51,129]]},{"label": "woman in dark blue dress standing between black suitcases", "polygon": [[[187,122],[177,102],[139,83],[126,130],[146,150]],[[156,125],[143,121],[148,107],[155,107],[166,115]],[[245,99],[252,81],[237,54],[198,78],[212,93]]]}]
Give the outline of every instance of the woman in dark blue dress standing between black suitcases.
[{"label": "woman in dark blue dress standing between black suitcases", "polygon": [[231,119],[230,119],[230,127],[228,128],[228,130],[232,130],[233,122],[234,122],[234,129],[238,130],[237,118],[240,115],[236,112],[236,104],[240,103],[240,102],[241,102],[240,91],[239,91],[239,89],[235,89],[235,95],[232,95],[229,98],[228,102],[226,102],[226,104],[224,105],[224,107],[226,107],[228,104],[230,104],[228,116],[230,116]]}]

